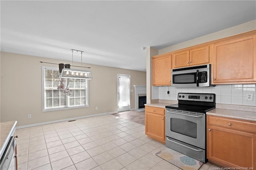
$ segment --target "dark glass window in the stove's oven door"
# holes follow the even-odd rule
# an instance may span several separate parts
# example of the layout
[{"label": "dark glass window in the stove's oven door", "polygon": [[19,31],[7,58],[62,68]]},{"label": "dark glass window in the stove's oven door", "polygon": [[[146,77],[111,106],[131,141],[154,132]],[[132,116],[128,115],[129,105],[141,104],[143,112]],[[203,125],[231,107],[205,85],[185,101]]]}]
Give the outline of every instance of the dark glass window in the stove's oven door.
[{"label": "dark glass window in the stove's oven door", "polygon": [[185,119],[171,118],[170,130],[192,138],[197,138],[197,124]]}]

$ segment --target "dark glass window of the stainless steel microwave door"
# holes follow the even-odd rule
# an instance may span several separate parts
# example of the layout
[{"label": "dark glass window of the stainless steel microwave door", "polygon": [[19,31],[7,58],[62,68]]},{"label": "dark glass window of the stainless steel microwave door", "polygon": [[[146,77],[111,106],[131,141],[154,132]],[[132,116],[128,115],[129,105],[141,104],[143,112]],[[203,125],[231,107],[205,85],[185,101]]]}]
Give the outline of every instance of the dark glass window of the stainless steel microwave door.
[{"label": "dark glass window of the stainless steel microwave door", "polygon": [[172,75],[174,84],[194,84],[196,83],[196,73],[184,73]]}]

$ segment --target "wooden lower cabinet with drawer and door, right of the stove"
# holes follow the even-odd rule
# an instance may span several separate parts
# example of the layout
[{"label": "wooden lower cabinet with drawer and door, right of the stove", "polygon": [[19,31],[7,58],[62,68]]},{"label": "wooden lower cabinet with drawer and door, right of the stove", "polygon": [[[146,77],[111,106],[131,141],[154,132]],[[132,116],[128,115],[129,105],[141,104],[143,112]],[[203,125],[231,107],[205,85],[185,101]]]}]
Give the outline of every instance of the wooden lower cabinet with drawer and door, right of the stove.
[{"label": "wooden lower cabinet with drawer and door, right of the stove", "polygon": [[256,122],[207,115],[207,158],[223,167],[256,168]]}]

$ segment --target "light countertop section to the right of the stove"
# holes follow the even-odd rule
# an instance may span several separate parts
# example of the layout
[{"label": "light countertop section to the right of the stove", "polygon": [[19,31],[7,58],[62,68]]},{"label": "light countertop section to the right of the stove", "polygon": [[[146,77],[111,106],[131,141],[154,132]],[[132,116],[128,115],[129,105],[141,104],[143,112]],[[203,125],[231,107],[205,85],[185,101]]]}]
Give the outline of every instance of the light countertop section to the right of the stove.
[{"label": "light countertop section to the right of the stove", "polygon": [[214,115],[214,116],[221,116],[221,117],[230,117],[235,119],[243,119],[248,121],[256,121],[256,112],[249,112],[249,111],[237,111],[237,110],[230,110],[230,109],[212,109],[208,111],[206,115]]}]

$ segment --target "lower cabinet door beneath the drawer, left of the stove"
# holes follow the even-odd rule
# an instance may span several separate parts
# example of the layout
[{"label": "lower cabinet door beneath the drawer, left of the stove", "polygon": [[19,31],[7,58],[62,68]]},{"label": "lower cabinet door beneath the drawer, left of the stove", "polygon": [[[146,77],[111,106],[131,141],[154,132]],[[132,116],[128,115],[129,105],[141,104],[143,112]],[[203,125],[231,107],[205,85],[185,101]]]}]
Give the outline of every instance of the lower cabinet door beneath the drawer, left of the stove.
[{"label": "lower cabinet door beneath the drawer, left of the stove", "polygon": [[165,143],[165,116],[145,112],[145,133],[149,137]]}]

